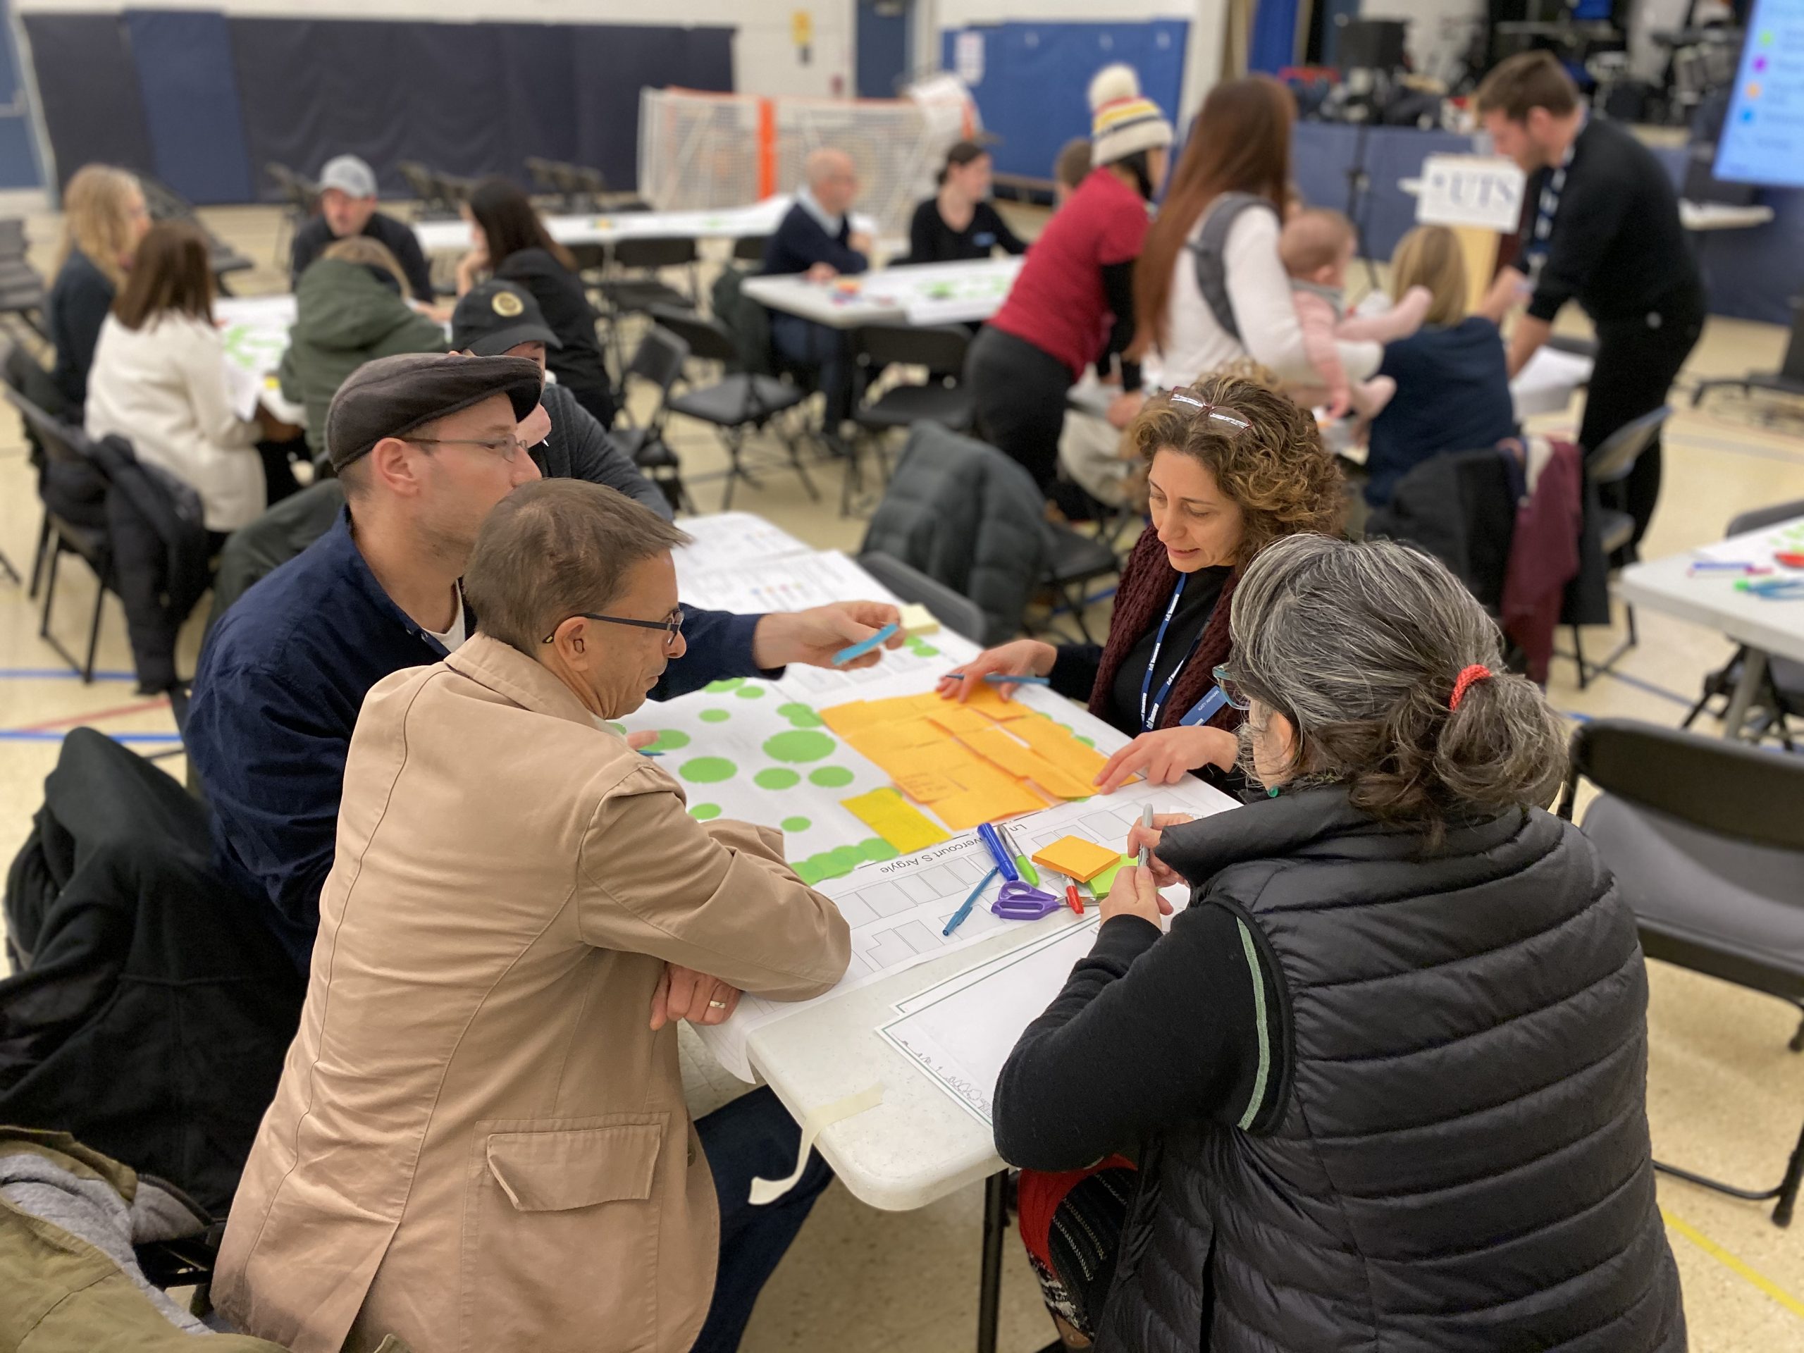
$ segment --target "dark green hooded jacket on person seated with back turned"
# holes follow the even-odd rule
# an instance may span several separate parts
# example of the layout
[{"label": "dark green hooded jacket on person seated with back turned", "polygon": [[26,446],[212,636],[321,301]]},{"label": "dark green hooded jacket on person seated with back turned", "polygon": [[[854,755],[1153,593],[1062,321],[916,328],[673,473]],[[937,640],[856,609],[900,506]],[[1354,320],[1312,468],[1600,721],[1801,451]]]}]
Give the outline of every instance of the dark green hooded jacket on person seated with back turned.
[{"label": "dark green hooded jacket on person seated with back turned", "polygon": [[327,410],[345,377],[375,357],[449,352],[444,325],[400,299],[364,263],[321,258],[294,289],[298,314],[281,357],[281,395],[307,408],[307,449],[327,446]]}]

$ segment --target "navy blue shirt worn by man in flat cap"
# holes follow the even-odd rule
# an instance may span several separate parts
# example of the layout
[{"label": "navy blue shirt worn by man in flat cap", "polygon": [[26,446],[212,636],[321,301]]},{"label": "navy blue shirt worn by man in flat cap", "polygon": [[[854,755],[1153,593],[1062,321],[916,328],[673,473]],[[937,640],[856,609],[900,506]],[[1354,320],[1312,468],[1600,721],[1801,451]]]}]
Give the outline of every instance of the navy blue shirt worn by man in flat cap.
[{"label": "navy blue shirt worn by man in flat cap", "polygon": [[[758,615],[684,612],[687,653],[651,691],[667,700],[720,676],[781,676],[752,662]],[[465,624],[474,630],[474,617]],[[245,592],[195,671],[184,741],[213,808],[220,868],[305,972],[332,871],[345,758],[370,687],[446,657],[402,612],[350,532],[332,530]]]}]

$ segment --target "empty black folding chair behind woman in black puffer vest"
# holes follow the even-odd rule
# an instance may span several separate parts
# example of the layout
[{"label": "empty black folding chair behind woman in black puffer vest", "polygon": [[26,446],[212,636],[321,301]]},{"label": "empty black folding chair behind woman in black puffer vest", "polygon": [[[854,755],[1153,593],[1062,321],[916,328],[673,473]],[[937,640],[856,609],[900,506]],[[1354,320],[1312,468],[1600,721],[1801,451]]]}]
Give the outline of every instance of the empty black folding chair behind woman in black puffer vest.
[{"label": "empty black folding chair behind woman in black puffer vest", "polygon": [[[1602,790],[1584,833],[1634,911],[1642,951],[1804,1010],[1804,761],[1634,720],[1595,720],[1573,734],[1560,817],[1571,819],[1580,779]],[[1791,1052],[1804,1052],[1804,1023]],[[1732,1198],[1772,1198],[1773,1221],[1788,1227],[1804,1178],[1804,1131],[1772,1189],[1658,1160],[1654,1169]]]}]

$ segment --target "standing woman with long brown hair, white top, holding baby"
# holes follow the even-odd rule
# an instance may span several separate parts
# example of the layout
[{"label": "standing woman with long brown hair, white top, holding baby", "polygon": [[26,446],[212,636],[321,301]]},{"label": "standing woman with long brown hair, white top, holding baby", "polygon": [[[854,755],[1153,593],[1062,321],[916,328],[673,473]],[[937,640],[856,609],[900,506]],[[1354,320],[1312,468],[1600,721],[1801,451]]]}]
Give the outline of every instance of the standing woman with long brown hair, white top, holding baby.
[{"label": "standing woman with long brown hair, white top, holding baby", "polygon": [[[1295,101],[1266,76],[1223,81],[1203,99],[1135,271],[1135,341],[1165,390],[1248,357],[1284,386],[1319,384],[1277,251],[1290,200],[1293,121]],[[1212,265],[1232,312],[1230,328],[1203,294],[1196,247],[1205,244],[1210,215],[1234,207],[1241,209]],[[1369,377],[1384,357],[1376,343],[1340,343],[1339,350],[1349,381]]]}]

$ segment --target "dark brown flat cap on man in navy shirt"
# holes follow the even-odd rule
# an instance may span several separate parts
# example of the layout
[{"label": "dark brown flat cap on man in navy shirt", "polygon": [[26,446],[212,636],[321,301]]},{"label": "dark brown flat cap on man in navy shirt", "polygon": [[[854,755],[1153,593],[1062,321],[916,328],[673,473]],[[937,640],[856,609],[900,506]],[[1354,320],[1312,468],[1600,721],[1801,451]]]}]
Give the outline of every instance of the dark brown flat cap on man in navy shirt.
[{"label": "dark brown flat cap on man in navy shirt", "polygon": [[539,364],[525,357],[465,357],[456,352],[408,352],[364,363],[339,386],[327,411],[327,455],[339,471],[370,455],[384,437],[406,437],[444,419],[507,395],[514,420],[539,402]]}]

